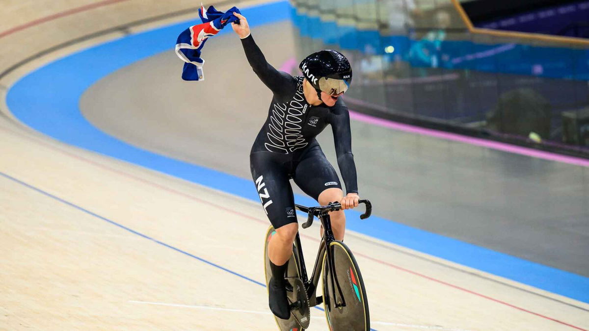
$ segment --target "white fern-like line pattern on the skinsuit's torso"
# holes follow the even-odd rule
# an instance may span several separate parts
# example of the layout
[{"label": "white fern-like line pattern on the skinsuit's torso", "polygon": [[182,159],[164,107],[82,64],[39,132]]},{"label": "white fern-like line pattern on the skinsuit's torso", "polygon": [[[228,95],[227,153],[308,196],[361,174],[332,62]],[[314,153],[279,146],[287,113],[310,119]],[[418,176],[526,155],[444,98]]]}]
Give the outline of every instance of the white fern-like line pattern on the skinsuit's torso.
[{"label": "white fern-like line pattern on the skinsuit's torso", "polygon": [[292,100],[284,104],[274,104],[268,123],[268,141],[264,144],[271,152],[289,154],[309,144],[300,134],[303,129],[303,114],[307,111],[302,82],[303,78],[299,77],[297,92]]}]

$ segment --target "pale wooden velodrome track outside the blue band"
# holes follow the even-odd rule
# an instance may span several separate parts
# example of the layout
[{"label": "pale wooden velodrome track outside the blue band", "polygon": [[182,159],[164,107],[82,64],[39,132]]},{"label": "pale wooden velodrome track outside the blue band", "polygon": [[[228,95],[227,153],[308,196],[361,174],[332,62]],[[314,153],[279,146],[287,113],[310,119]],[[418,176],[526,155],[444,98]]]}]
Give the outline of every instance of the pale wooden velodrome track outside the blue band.
[{"label": "pale wooden velodrome track outside the blue band", "polygon": [[[24,44],[48,49],[193,5],[9,1],[0,14],[0,69],[32,54]],[[12,82],[52,59],[194,15],[28,61],[1,78],[2,102]],[[1,110],[0,329],[276,329],[259,204],[59,143]],[[303,232],[309,257],[317,231]],[[588,304],[351,231],[346,243],[363,271],[374,329],[589,329]],[[327,329],[322,311],[312,316],[310,330]]]}]

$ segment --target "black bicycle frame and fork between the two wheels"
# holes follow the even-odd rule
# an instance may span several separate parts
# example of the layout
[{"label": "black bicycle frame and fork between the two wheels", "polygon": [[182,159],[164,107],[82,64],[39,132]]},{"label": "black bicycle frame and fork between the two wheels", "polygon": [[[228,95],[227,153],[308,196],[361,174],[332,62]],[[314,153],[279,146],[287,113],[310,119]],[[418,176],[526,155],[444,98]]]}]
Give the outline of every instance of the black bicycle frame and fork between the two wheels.
[{"label": "black bicycle frame and fork between the two wheels", "polygon": [[[304,207],[304,206],[299,206],[298,204],[294,205],[298,210],[303,211],[304,213],[309,213],[309,208]],[[295,246],[296,246],[296,254],[297,254],[297,258],[298,258],[298,268],[299,268],[299,274],[300,274],[300,278],[303,281],[303,284],[305,284],[305,288],[307,290],[307,297],[309,298],[309,306],[313,307],[316,306],[317,304],[321,304],[323,300],[325,300],[325,298],[321,298],[321,300],[317,300],[318,298],[316,297],[316,290],[317,290],[317,284],[319,283],[319,274],[321,273],[321,270],[323,269],[323,261],[322,261],[322,257],[323,254],[325,253],[325,251],[327,251],[327,263],[329,263],[329,269],[331,270],[330,274],[330,279],[329,281],[332,284],[332,289],[334,289],[334,293],[333,294],[333,298],[335,299],[335,288],[337,286],[337,292],[339,292],[339,296],[341,298],[341,303],[337,303],[337,300],[335,301],[335,307],[345,307],[346,306],[346,300],[345,297],[343,297],[343,293],[342,293],[342,289],[339,285],[339,282],[337,281],[337,275],[336,275],[336,270],[334,267],[334,262],[333,262],[333,251],[329,249],[329,245],[330,243],[332,243],[332,241],[335,241],[335,237],[333,236],[333,230],[331,227],[331,219],[329,217],[329,213],[327,213],[327,211],[323,211],[322,213],[319,214],[319,220],[321,221],[321,224],[323,225],[323,238],[321,239],[321,244],[319,245],[319,251],[317,251],[317,257],[315,260],[315,267],[313,268],[313,273],[311,274],[311,280],[308,279],[307,276],[307,268],[305,267],[305,258],[303,257],[303,249],[300,243],[300,236],[299,233],[296,234],[295,237]]]}]

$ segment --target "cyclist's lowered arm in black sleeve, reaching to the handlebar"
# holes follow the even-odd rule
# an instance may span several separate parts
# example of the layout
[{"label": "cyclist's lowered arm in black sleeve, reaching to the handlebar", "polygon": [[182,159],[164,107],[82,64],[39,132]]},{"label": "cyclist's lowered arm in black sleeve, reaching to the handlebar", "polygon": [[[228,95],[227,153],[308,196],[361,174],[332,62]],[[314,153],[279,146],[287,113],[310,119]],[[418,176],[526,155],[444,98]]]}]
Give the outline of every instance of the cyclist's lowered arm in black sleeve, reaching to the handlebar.
[{"label": "cyclist's lowered arm in black sleeve, reaching to the handlebar", "polygon": [[335,141],[335,153],[337,166],[342,173],[343,182],[346,184],[346,193],[358,193],[358,180],[356,178],[356,164],[352,154],[352,132],[350,130],[350,114],[343,100],[337,100],[332,107],[330,123]]}]

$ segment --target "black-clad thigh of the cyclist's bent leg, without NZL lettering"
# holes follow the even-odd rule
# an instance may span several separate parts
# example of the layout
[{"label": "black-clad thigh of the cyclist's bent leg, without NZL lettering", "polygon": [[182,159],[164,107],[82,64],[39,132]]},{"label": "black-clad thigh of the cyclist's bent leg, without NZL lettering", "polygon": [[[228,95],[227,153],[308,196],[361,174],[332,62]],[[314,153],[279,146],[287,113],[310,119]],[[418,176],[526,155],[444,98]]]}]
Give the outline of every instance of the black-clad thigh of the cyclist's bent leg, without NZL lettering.
[{"label": "black-clad thigh of the cyclist's bent leg, without NZL lettering", "polygon": [[294,183],[310,197],[318,200],[319,194],[327,188],[341,190],[342,184],[319,145],[310,148],[294,171]]}]

